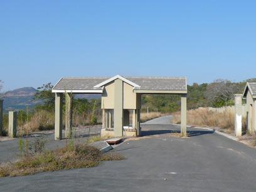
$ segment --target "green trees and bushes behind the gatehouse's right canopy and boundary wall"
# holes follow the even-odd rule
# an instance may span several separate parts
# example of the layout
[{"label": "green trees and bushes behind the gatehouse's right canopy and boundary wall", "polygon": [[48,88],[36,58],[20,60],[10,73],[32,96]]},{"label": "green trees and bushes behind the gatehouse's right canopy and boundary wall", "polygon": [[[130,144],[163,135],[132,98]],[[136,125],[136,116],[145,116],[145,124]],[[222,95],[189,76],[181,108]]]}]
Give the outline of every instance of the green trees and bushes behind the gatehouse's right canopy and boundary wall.
[{"label": "green trees and bushes behind the gatehouse's right canopy and boundary wall", "polygon": [[[243,82],[215,80],[212,83],[188,85],[187,108],[223,107],[234,105],[234,94],[242,93],[246,82],[256,82],[256,78]],[[142,95],[141,112],[173,113],[180,110],[180,95]]]}]

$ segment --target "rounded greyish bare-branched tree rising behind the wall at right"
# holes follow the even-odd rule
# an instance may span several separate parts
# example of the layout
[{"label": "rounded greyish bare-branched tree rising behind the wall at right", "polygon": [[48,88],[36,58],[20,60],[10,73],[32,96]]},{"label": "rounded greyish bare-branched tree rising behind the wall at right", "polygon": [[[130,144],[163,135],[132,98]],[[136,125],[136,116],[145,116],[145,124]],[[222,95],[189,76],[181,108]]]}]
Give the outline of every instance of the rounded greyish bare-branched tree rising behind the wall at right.
[{"label": "rounded greyish bare-branched tree rising behind the wall at right", "polygon": [[239,83],[232,83],[229,80],[218,79],[208,84],[206,88],[206,99],[211,104],[229,105],[233,95],[240,90]]}]

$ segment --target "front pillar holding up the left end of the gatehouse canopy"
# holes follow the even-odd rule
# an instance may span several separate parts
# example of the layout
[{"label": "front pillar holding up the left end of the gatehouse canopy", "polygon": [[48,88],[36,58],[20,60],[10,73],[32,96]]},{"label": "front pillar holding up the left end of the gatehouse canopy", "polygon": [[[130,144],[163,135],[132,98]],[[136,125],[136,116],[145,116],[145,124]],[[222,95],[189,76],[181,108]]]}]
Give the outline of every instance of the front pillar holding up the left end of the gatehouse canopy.
[{"label": "front pillar holding up the left end of the gatehouse canopy", "polygon": [[62,139],[62,93],[55,93],[55,140]]}]

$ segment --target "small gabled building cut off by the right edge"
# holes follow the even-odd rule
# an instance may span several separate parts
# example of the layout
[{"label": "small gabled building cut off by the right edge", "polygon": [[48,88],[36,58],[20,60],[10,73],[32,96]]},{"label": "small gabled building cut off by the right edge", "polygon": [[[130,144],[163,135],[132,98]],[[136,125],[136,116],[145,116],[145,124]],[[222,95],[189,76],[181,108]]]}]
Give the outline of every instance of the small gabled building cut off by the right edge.
[{"label": "small gabled building cut off by the right edge", "polygon": [[[256,132],[256,83],[247,82],[242,95],[246,99],[247,131],[250,134]],[[242,99],[242,98],[241,98]]]}]

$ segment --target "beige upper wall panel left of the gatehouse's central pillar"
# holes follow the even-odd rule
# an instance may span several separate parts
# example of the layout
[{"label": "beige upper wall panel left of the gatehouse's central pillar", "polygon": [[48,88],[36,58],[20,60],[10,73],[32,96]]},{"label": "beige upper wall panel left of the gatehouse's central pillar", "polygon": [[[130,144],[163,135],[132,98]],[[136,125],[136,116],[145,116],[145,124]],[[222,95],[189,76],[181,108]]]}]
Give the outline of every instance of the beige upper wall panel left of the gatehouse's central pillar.
[{"label": "beige upper wall panel left of the gatehouse's central pillar", "polygon": [[115,100],[115,84],[110,82],[105,85],[105,88],[102,93],[102,109],[114,109],[114,100]]}]

